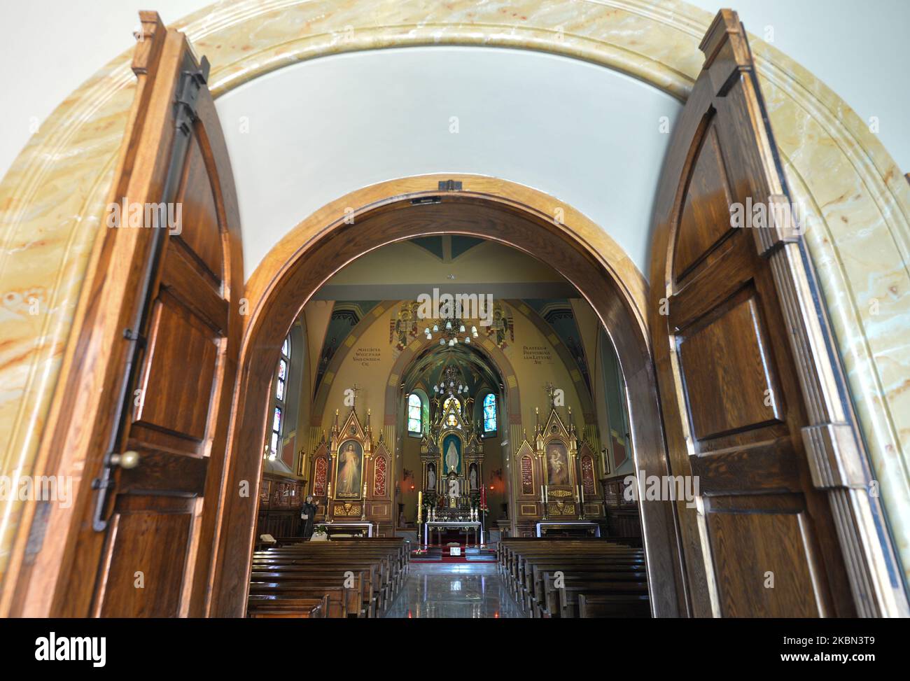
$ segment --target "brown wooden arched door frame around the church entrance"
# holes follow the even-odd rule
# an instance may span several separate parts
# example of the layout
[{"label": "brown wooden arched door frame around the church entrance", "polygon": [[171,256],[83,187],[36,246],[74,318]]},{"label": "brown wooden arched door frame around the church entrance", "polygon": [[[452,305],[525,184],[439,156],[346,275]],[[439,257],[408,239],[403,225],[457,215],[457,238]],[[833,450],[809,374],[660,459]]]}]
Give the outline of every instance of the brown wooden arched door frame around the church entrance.
[{"label": "brown wooden arched door frame around the church entrance", "polygon": [[[632,294],[642,292],[641,275],[629,271],[615,247],[592,248],[585,236],[600,230],[576,211],[566,208],[561,211],[563,221],[551,219],[545,211],[558,202],[540,192],[492,178],[463,178],[462,188],[450,191],[445,189],[448,185],[440,188],[443,181],[437,176],[409,178],[339,199],[298,225],[254,273],[248,286],[250,313],[235,392],[225,489],[258,480],[268,381],[278,361],[275,339],[284,338],[307,300],[336,271],[371,250],[441,233],[490,239],[519,249],[546,261],[581,292],[620,359],[630,396],[636,470],[669,473],[651,350],[642,308]],[[619,257],[611,261],[604,253]],[[626,270],[625,277],[620,269]],[[220,525],[231,529],[220,533],[212,615],[236,616],[244,611],[254,515],[255,503],[227,494]],[[685,612],[675,528],[672,503],[642,504],[648,581],[656,615]]]}]

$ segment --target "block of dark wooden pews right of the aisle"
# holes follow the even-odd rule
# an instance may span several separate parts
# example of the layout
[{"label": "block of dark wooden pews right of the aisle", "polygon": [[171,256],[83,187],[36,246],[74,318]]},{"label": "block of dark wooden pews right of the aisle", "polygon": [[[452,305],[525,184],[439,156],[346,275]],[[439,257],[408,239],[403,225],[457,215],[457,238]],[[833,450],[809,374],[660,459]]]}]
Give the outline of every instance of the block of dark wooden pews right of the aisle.
[{"label": "block of dark wooden pews right of the aisle", "polygon": [[641,548],[601,539],[503,539],[497,565],[529,617],[650,617]]}]

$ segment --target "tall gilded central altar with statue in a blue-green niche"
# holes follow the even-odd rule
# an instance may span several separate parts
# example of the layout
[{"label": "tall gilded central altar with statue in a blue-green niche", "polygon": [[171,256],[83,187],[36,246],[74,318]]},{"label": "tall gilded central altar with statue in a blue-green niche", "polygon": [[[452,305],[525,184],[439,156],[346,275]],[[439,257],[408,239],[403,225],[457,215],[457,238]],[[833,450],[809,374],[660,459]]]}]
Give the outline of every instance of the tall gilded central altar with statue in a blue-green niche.
[{"label": "tall gilded central altar with statue in a blue-green niche", "polygon": [[418,522],[424,544],[483,543],[483,443],[480,426],[470,419],[473,402],[451,394],[432,401],[430,429],[420,441]]}]

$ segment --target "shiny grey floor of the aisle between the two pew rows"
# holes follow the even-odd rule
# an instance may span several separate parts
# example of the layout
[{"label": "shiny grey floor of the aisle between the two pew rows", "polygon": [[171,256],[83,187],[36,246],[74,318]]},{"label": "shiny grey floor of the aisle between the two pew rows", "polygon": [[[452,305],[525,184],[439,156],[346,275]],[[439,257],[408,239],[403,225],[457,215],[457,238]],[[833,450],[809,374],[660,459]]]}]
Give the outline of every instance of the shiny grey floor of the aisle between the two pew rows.
[{"label": "shiny grey floor of the aisle between the two pew rows", "polygon": [[521,617],[494,564],[411,564],[387,617]]}]

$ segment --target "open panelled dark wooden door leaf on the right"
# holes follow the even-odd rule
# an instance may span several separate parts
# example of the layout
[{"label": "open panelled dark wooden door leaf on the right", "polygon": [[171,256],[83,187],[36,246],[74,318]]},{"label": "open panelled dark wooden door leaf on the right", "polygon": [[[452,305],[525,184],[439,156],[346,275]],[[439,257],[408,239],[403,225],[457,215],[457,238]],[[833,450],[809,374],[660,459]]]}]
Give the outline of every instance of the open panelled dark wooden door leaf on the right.
[{"label": "open panelled dark wooden door leaf on the right", "polygon": [[766,257],[796,230],[785,218],[732,220],[737,204],[789,200],[735,13],[717,15],[701,48],[661,178],[652,259],[672,469],[696,476],[700,493],[696,511],[678,504],[695,517],[681,523],[693,612],[854,615],[830,504],[806,460],[791,330]]}]

